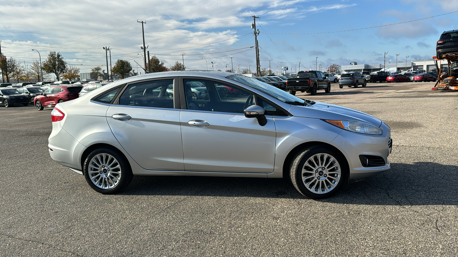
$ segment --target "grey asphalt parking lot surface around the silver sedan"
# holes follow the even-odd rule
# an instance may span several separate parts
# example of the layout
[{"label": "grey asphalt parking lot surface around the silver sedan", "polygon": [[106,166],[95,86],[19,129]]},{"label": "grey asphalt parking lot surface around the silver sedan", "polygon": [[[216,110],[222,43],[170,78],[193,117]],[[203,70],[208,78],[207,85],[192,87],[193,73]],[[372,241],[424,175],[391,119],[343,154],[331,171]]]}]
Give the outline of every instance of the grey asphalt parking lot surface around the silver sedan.
[{"label": "grey asphalt parking lot surface around the silver sedan", "polygon": [[392,168],[333,198],[288,180],[134,177],[102,195],[52,161],[50,108],[0,107],[0,256],[457,256],[458,91],[368,83],[297,96],[392,128]]}]

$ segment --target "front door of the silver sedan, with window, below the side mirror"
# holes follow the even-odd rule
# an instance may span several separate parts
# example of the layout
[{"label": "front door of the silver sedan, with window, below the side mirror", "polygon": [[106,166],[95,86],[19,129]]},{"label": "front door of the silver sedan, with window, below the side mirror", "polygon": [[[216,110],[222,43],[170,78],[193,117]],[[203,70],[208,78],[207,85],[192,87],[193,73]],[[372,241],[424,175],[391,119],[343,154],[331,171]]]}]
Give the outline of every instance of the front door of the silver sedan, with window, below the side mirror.
[{"label": "front door of the silver sedan, with window, below the side mirror", "polygon": [[[255,103],[253,93],[218,80],[180,81],[180,92],[185,95],[180,115],[185,171],[273,172],[273,118],[260,126],[256,118],[245,118],[243,113]],[[194,83],[207,88],[207,99],[192,99]]]}]

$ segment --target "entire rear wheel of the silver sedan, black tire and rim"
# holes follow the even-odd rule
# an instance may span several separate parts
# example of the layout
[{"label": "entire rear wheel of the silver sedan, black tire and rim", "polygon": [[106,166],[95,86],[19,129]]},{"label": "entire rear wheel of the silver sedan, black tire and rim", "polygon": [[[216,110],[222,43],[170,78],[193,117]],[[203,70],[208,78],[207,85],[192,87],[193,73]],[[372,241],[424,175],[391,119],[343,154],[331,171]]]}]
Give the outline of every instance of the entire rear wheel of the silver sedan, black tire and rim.
[{"label": "entire rear wheel of the silver sedan, black tire and rim", "polygon": [[[93,157],[97,155],[105,155],[105,157],[102,158],[102,163],[98,163],[100,161],[92,161]],[[111,166],[119,166],[118,168],[113,168],[112,171],[109,170],[109,167],[111,166],[103,166],[104,162],[110,163],[111,161],[113,161]],[[96,169],[93,167],[91,167],[93,170],[90,170],[89,164],[94,167],[97,165],[100,171],[96,171]],[[119,172],[119,174],[117,172]],[[87,155],[86,160],[84,161],[83,174],[89,186],[98,193],[103,194],[120,192],[122,189],[129,185],[133,177],[129,161],[127,161],[123,155],[108,148],[99,148],[97,150],[93,150],[89,155]],[[93,182],[93,180],[95,182]],[[100,186],[97,186],[96,184]],[[106,187],[112,187],[107,189],[101,188],[105,185]]]}]

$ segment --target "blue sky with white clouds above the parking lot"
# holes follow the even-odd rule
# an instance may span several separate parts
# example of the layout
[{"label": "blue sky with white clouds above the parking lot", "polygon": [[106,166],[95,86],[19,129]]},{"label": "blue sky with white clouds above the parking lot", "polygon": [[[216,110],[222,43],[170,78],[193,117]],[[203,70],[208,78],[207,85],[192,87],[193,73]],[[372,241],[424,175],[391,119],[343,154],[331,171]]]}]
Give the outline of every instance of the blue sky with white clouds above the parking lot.
[{"label": "blue sky with white clouds above the parking lot", "polygon": [[[187,69],[255,70],[251,15],[260,31],[262,68],[278,64],[323,69],[329,64],[383,63],[431,59],[445,30],[458,29],[458,0],[233,0],[108,1],[0,0],[2,53],[22,63],[42,61],[49,51],[89,72],[106,67],[103,46],[112,62],[127,59],[133,69],[143,63],[142,26],[150,55],[166,66],[184,59]],[[442,15],[442,16],[438,16]],[[438,16],[429,19],[426,17]],[[423,19],[420,21],[412,21]],[[412,21],[393,26],[376,27]],[[376,27],[363,30],[353,30]],[[332,32],[332,33],[327,33]],[[181,54],[184,54],[183,56]],[[230,57],[233,57],[232,64]],[[205,59],[207,60],[207,63]],[[246,60],[246,61],[245,61]]]}]

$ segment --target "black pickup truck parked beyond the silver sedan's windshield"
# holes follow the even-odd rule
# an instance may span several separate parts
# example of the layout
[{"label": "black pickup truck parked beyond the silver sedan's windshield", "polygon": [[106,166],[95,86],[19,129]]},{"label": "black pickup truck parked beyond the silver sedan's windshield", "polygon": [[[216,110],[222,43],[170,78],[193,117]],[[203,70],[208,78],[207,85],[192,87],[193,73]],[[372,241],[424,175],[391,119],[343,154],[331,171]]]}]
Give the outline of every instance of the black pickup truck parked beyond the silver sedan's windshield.
[{"label": "black pickup truck parked beyond the silver sedan's windshield", "polygon": [[286,80],[285,88],[291,95],[295,95],[296,91],[301,91],[314,96],[317,90],[324,89],[326,93],[331,92],[331,82],[321,71],[306,70],[298,72],[295,78]]}]

